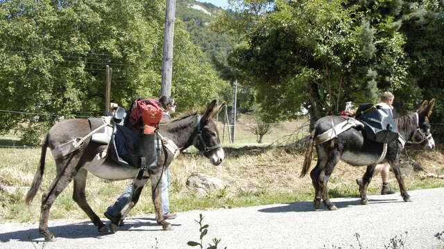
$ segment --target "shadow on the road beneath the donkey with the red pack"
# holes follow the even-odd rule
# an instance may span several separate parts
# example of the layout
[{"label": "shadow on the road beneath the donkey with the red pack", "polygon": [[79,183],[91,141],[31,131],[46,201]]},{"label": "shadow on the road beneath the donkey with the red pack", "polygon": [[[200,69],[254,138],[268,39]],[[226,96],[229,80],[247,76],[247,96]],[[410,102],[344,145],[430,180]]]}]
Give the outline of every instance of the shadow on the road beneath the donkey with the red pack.
[{"label": "shadow on the road beneath the donkey with the red pack", "polygon": [[[109,225],[109,222],[105,222],[105,225]],[[171,224],[178,226],[178,224]],[[141,228],[144,227],[144,228]],[[150,228],[146,228],[150,227]],[[109,236],[111,233],[100,233],[97,231],[96,226],[91,221],[83,221],[78,223],[72,223],[67,225],[49,225],[49,230],[56,236],[56,238],[66,239],[83,239],[83,238],[96,238]],[[119,231],[157,231],[162,230],[162,225],[158,225],[153,218],[130,218],[124,220],[124,225],[119,227]],[[10,240],[27,241],[27,242],[42,242],[44,237],[38,232],[38,224],[35,224],[35,229],[27,229],[15,232],[6,232],[0,234],[0,242],[8,242]]]}]

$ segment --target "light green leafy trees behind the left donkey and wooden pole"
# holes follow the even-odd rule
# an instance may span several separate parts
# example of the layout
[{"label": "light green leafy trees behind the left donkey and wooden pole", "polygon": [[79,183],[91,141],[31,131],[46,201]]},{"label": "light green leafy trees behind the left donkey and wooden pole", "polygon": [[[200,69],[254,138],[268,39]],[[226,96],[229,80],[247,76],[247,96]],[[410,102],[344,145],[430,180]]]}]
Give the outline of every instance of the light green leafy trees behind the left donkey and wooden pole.
[{"label": "light green leafy trees behind the left donkey and wooden pole", "polygon": [[[160,93],[165,3],[153,1],[1,1],[0,133],[36,141],[60,119],[103,114],[105,65],[112,102],[123,107]],[[181,108],[215,98],[217,75],[178,21],[173,95]]]}]

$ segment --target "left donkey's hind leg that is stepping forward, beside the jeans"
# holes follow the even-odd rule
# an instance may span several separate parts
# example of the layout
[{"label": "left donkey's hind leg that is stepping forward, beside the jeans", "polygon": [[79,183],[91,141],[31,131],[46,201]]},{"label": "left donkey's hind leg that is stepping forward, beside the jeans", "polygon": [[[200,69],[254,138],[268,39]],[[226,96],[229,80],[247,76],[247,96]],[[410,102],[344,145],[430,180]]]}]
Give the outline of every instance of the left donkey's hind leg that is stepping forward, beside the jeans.
[{"label": "left donkey's hind leg that is stepping forward, beside the jeans", "polygon": [[99,232],[109,232],[106,225],[102,223],[99,216],[97,216],[86,201],[85,185],[87,174],[88,172],[86,169],[79,169],[78,173],[74,177],[74,192],[72,199],[74,199],[83,212],[89,216],[89,219],[91,219],[92,223],[96,225]]}]

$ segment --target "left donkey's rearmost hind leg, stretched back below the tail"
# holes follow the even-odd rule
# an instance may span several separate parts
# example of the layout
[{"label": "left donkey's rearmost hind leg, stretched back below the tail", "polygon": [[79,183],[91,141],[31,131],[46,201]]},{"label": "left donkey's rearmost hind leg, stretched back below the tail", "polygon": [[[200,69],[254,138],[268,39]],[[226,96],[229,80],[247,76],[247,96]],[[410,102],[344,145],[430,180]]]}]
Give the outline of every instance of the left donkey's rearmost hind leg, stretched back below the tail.
[{"label": "left donkey's rearmost hind leg, stretched back below the tail", "polygon": [[[72,178],[76,175],[75,165],[80,158],[80,155],[74,155],[71,158],[65,160],[56,160],[56,167],[58,167],[58,176],[53,180],[49,189],[42,194],[42,207],[40,208],[40,224],[39,232],[44,235],[45,241],[56,241],[56,237],[49,232],[48,229],[48,217],[49,210],[54,201],[56,201],[58,195],[65,190],[65,187],[71,182]],[[66,165],[62,167],[61,165]]]}]

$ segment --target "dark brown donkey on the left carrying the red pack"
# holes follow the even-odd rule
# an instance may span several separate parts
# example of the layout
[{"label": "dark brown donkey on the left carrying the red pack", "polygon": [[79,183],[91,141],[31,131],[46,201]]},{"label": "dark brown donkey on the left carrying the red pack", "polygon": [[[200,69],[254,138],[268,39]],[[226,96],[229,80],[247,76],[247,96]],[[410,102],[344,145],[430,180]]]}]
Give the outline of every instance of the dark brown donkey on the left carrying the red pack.
[{"label": "dark brown donkey on the left carrying the red pack", "polygon": [[[225,106],[225,102],[216,107],[216,100],[213,100],[205,111],[196,113],[184,113],[178,118],[169,122],[161,123],[159,126],[160,135],[163,138],[169,138],[180,149],[194,145],[199,151],[210,159],[213,165],[219,165],[224,157],[219,132],[213,118]],[[42,146],[42,155],[40,165],[35,172],[31,189],[26,194],[26,203],[29,205],[37,193],[44,174],[44,160],[46,148],[51,150],[73,140],[82,138],[91,132],[88,120],[72,119],[59,122],[49,129]],[[119,181],[128,178],[135,178],[133,184],[133,193],[130,201],[121,211],[120,221],[130,212],[131,208],[139,200],[139,195],[148,178],[151,179],[151,191],[153,194],[153,203],[155,207],[155,219],[162,225],[164,230],[171,230],[171,225],[165,221],[162,211],[160,187],[156,187],[160,181],[164,167],[174,159],[174,152],[167,149],[160,149],[157,154],[157,166],[148,169],[142,177],[137,177],[139,169],[135,167],[123,167],[117,163],[104,163],[97,154],[106,145],[92,142],[90,138],[85,140],[80,149],[67,156],[56,159],[57,176],[51,183],[49,189],[42,194],[42,207],[40,213],[39,232],[44,234],[46,241],[53,241],[55,237],[48,229],[48,216],[51,205],[56,201],[57,196],[74,179],[73,199],[89,216],[89,219],[96,225],[99,232],[108,232],[108,228],[102,223],[99,216],[89,207],[85,198],[85,184],[87,172],[112,181]],[[176,148],[177,149],[177,148]],[[177,152],[177,151],[175,151]],[[165,160],[166,159],[166,160]],[[165,162],[165,163],[164,163]],[[117,230],[120,221],[111,223],[111,229]]]}]

